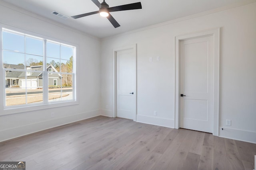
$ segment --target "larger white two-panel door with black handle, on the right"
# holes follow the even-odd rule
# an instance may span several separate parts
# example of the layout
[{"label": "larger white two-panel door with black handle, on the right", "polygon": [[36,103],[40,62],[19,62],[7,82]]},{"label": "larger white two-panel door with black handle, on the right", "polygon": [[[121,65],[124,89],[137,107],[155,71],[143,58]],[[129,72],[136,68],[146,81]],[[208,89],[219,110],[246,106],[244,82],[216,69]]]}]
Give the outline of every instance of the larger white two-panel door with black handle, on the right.
[{"label": "larger white two-panel door with black handle, on the right", "polygon": [[181,128],[213,131],[213,57],[213,36],[180,41]]}]

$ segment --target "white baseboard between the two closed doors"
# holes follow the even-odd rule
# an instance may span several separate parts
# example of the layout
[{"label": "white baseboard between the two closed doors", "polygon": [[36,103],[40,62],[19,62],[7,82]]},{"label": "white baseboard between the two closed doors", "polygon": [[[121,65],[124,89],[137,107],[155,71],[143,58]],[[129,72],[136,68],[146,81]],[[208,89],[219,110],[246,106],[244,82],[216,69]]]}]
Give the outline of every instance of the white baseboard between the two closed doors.
[{"label": "white baseboard between the two closed doors", "polygon": [[158,125],[163,127],[174,128],[174,119],[165,119],[160,117],[137,115],[136,121],[140,123],[150,124],[150,125]]}]

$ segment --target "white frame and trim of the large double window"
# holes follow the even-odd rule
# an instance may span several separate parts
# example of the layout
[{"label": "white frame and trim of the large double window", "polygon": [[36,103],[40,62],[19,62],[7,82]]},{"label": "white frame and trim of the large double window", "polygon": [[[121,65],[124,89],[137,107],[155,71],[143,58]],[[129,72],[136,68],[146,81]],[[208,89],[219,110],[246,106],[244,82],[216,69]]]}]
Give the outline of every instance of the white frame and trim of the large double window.
[{"label": "white frame and trim of the large double window", "polygon": [[[61,45],[65,45],[68,47],[73,47],[73,72],[70,73],[73,75],[73,90],[72,90],[72,95],[73,95],[73,99],[74,100],[63,100],[63,101],[57,101],[57,102],[49,102],[48,101],[48,90],[44,90],[43,94],[44,94],[44,103],[43,104],[25,104],[25,105],[16,105],[16,106],[5,106],[5,100],[6,100],[6,94],[5,94],[5,89],[6,89],[6,84],[4,81],[1,85],[0,88],[2,88],[3,90],[0,90],[0,96],[3,96],[2,99],[0,99],[0,102],[3,103],[4,102],[4,106],[0,105],[0,115],[8,115],[8,114],[12,114],[12,113],[22,113],[22,112],[27,112],[27,111],[36,111],[36,110],[41,110],[41,109],[48,109],[48,108],[54,108],[54,107],[63,107],[63,106],[72,106],[72,105],[77,105],[79,104],[78,102],[78,96],[76,94],[76,92],[78,91],[78,87],[77,87],[77,72],[76,70],[79,70],[79,68],[77,67],[79,63],[78,62],[78,58],[77,58],[77,51],[78,51],[78,44],[74,44],[74,43],[70,43],[68,41],[63,41],[61,39],[56,39],[53,37],[47,37],[46,35],[42,35],[42,34],[37,34],[34,32],[30,32],[24,29],[19,29],[17,27],[12,27],[10,25],[4,25],[0,23],[0,27],[1,32],[0,32],[0,64],[3,65],[3,56],[2,56],[2,31],[11,31],[13,33],[18,33],[18,34],[23,34],[23,35],[27,35],[30,37],[42,37],[42,39],[44,39],[45,43],[44,45],[46,45],[46,41],[52,41],[52,42],[56,42],[56,43],[60,43]],[[46,49],[44,51],[46,53]],[[44,61],[46,61],[46,55],[44,55]],[[4,69],[0,69],[0,74],[2,74],[2,78],[4,79],[5,77],[5,72],[3,72]],[[43,71],[43,77],[44,78],[48,78],[48,72],[46,71],[46,64],[44,64],[44,71]],[[16,69],[16,71],[20,71],[18,69]],[[22,70],[24,72],[26,72],[25,70]],[[33,72],[38,72],[38,71],[34,71]],[[69,73],[68,73],[69,74]],[[44,81],[44,87],[48,87],[48,81]],[[46,84],[47,82],[47,84]],[[46,95],[47,94],[47,95]],[[2,110],[2,111],[1,111]]]}]

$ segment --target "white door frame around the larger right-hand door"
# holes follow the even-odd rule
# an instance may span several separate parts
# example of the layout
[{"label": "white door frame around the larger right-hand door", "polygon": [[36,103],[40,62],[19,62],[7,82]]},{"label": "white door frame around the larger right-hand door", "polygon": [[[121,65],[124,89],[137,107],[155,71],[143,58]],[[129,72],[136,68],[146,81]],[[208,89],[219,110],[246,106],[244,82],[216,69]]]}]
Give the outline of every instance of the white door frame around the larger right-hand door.
[{"label": "white door frame around the larger right-hand door", "polygon": [[220,28],[204,30],[196,33],[178,35],[175,37],[175,129],[180,128],[180,41],[213,36],[214,61],[213,61],[213,131],[214,136],[219,136],[219,84],[220,84]]}]

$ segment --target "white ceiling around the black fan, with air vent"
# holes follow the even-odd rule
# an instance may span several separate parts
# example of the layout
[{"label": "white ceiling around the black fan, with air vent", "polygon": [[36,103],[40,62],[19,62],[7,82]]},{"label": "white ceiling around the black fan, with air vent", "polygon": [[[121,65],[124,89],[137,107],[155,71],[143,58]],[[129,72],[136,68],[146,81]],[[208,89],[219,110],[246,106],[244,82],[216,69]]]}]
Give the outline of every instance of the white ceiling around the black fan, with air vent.
[{"label": "white ceiling around the black fan, with air vent", "polygon": [[[99,14],[79,19],[70,18],[78,14],[98,11],[91,0],[2,0],[27,11],[49,18],[56,22],[76,28],[99,38],[124,33],[164,21],[197,14],[207,10],[230,6],[252,0],[106,0],[110,7],[141,2],[142,9],[112,12],[111,15],[121,25],[114,28],[107,18]],[[100,3],[103,0],[99,0]],[[58,12],[68,19],[60,18]]]}]

